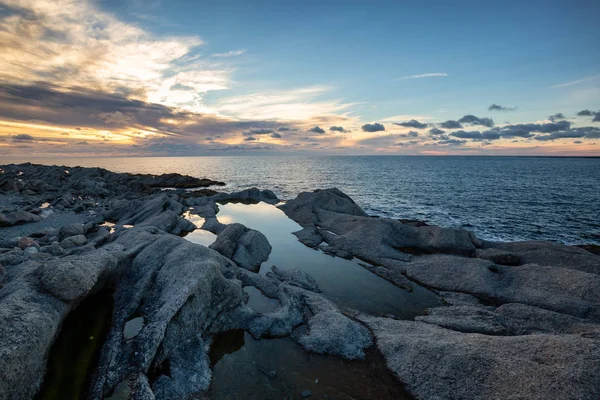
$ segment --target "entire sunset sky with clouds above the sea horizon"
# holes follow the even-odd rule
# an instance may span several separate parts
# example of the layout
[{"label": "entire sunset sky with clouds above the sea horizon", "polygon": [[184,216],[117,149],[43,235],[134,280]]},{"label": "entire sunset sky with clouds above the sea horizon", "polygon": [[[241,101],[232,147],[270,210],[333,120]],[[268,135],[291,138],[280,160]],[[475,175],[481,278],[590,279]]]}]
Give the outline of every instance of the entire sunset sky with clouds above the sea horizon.
[{"label": "entire sunset sky with clouds above the sea horizon", "polygon": [[598,15],[591,0],[0,0],[0,155],[600,156]]}]

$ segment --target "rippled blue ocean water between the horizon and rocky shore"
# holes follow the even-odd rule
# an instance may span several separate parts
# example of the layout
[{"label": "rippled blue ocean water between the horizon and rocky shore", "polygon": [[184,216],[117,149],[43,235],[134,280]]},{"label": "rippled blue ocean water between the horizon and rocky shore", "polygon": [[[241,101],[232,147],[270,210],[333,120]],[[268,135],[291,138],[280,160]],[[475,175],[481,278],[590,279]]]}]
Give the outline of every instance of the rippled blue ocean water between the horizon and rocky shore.
[{"label": "rippled blue ocean water between the horizon and rocky shore", "polygon": [[178,172],[271,189],[282,199],[337,187],[369,214],[464,227],[479,237],[600,244],[600,158],[231,156],[32,161]]}]

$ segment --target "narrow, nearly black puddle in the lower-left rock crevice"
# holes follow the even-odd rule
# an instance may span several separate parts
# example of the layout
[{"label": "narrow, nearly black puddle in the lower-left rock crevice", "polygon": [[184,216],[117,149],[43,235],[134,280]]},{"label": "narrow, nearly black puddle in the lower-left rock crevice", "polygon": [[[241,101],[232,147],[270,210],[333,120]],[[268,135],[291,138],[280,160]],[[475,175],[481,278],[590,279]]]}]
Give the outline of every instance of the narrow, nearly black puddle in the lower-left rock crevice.
[{"label": "narrow, nearly black puddle in the lower-left rock crevice", "polygon": [[110,328],[112,291],[85,299],[63,322],[48,356],[37,400],[86,399],[92,372]]}]

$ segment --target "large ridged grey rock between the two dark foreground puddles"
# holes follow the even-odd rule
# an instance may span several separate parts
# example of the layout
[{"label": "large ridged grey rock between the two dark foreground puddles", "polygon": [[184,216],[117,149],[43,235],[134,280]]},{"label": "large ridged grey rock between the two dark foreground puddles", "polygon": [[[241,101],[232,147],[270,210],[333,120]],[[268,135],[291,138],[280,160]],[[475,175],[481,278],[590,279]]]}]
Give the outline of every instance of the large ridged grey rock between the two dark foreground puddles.
[{"label": "large ridged grey rock between the two dark foreground puddles", "polygon": [[[209,330],[239,329],[250,313],[241,286],[221,273],[237,267],[211,249],[155,227],[115,236],[131,261],[117,283],[112,327],[90,398],[102,399],[132,373],[163,371],[161,365],[170,373],[157,372],[151,385],[156,398],[201,396],[211,377]],[[143,317],[144,325],[125,341],[125,324],[134,317]]]}]

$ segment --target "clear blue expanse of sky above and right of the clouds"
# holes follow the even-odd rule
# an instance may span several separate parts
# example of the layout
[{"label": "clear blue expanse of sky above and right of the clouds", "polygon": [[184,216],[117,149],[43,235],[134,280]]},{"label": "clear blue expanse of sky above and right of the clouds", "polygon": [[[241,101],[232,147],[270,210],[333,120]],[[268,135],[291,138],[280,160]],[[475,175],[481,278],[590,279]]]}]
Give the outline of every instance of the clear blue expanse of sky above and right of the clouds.
[{"label": "clear blue expanse of sky above and right of the clouds", "polygon": [[[531,119],[598,101],[566,102],[572,88],[553,88],[600,75],[597,1],[114,3],[101,4],[131,21],[143,15],[160,35],[199,35],[205,53],[244,49],[242,84],[227,95],[330,85],[330,96],[367,103],[356,107],[365,120],[485,113],[491,103]],[[394,81],[435,72],[448,76]]]}]

